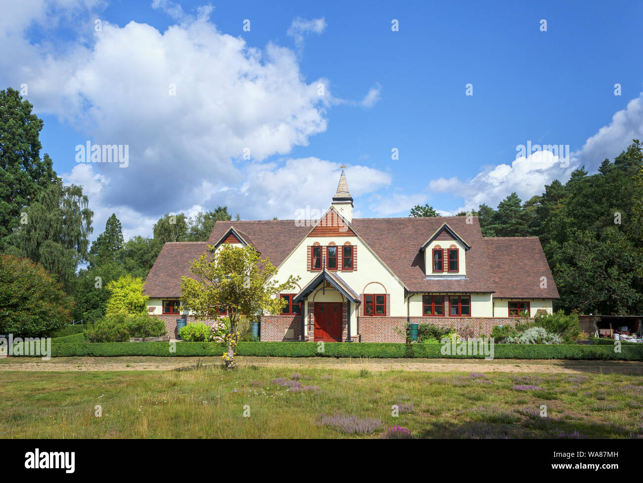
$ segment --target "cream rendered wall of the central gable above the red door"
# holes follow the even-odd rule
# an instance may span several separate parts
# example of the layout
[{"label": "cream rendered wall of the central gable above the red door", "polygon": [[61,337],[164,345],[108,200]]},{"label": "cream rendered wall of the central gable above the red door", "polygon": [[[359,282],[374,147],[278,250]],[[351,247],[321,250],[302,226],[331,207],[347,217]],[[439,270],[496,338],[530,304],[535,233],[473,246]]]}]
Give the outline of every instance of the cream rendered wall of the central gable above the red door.
[{"label": "cream rendered wall of the central gable above the red door", "polygon": [[[322,247],[334,242],[341,248],[345,242],[350,242],[357,248],[357,270],[343,271],[338,270],[336,273],[341,277],[355,292],[364,294],[364,290],[371,282],[379,282],[384,285],[371,285],[368,287],[368,293],[371,294],[390,294],[390,315],[392,316],[406,316],[406,303],[404,302],[404,286],[399,279],[395,277],[379,259],[372,254],[361,240],[356,236],[316,236],[305,238],[303,242],[294,249],[294,251],[284,260],[280,265],[278,272],[275,274],[275,279],[283,281],[289,275],[301,276],[302,279],[298,282],[300,286],[305,286],[314,277],[318,276],[319,272],[307,271],[307,250],[314,242],[319,242]],[[386,289],[386,290],[385,290]],[[328,293],[328,291],[327,291]],[[309,301],[312,300],[312,294],[308,297]],[[355,317],[351,315],[351,325],[354,325]]]}]

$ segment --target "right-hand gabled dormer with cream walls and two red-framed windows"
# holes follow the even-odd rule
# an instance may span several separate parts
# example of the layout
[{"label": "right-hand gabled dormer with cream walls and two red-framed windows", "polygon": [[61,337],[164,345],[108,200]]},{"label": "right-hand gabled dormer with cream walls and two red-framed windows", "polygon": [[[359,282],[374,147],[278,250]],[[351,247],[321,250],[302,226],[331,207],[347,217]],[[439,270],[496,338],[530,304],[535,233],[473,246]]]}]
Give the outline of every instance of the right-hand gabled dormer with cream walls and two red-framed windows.
[{"label": "right-hand gabled dormer with cream walls and two red-framed windows", "polygon": [[427,278],[464,278],[467,274],[466,252],[471,246],[449,227],[443,224],[429,240],[424,252],[424,267]]}]

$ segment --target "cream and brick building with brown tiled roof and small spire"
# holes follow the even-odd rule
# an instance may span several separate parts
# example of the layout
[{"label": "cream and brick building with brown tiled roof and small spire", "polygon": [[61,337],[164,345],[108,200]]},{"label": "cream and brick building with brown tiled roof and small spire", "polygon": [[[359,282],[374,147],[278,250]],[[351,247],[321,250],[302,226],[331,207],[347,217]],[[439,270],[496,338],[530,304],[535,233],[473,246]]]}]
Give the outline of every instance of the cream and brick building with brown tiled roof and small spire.
[{"label": "cream and brick building with brown tiled roof and small spire", "polygon": [[208,245],[232,243],[269,258],[276,279],[301,277],[283,313],[260,315],[261,340],[404,342],[409,322],[468,337],[552,313],[559,295],[538,237],[485,238],[476,216],[352,214],[342,170],[320,220],[216,222],[208,242],[166,243],[145,282],[149,312],[170,334],[177,318],[194,320],[179,307],[181,276]]}]

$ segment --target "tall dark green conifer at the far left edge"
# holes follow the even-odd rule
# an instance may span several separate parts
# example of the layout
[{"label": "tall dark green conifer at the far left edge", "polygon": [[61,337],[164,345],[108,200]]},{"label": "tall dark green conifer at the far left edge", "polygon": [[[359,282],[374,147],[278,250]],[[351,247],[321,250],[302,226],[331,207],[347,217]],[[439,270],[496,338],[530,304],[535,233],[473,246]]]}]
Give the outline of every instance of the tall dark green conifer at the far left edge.
[{"label": "tall dark green conifer at the far left edge", "polygon": [[50,157],[40,158],[42,119],[32,107],[15,89],[0,91],[0,249],[24,208],[58,179]]}]

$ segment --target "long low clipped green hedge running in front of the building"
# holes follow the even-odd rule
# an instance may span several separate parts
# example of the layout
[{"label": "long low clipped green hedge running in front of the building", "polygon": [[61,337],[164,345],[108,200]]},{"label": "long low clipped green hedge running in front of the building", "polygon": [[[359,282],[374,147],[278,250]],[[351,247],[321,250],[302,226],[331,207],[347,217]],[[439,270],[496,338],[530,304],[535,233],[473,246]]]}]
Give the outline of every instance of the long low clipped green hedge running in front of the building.
[{"label": "long low clipped green hedge running in front of the building", "polygon": [[[51,341],[51,356],[203,356],[219,357],[225,346],[215,342],[67,342]],[[367,358],[484,358],[484,355],[442,355],[442,344],[394,344],[385,342],[330,342],[318,352],[315,342],[239,342],[237,355],[273,357],[367,357]],[[643,346],[584,346],[545,344],[495,344],[496,359],[643,360]]]}]

